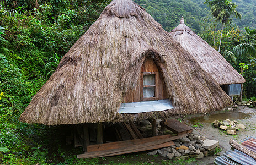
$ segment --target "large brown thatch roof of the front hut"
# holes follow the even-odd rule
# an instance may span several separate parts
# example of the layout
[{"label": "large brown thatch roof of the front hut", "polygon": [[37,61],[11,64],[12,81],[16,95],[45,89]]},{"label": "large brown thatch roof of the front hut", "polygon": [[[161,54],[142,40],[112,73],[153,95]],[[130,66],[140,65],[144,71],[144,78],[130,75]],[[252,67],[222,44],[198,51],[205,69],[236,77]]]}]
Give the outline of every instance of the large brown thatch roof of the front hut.
[{"label": "large brown thatch roof of the front hut", "polygon": [[[141,66],[152,54],[174,109],[119,114],[122,98],[136,87]],[[19,119],[45,125],[120,122],[216,111],[230,103],[145,9],[131,0],[114,0],[63,56]]]}]

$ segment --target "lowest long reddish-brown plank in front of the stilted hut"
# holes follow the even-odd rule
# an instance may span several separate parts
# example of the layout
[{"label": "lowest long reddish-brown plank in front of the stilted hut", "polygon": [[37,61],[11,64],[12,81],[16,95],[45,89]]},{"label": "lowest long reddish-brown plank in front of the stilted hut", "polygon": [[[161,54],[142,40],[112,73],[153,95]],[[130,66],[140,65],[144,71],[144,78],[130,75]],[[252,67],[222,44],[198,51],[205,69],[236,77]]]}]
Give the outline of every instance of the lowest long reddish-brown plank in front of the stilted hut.
[{"label": "lowest long reddish-brown plank in front of the stilted hut", "polygon": [[[116,153],[111,153],[108,155],[103,155],[101,157],[107,157],[107,156],[115,156],[115,155],[122,155],[122,154],[126,154],[126,153],[133,153],[133,152],[140,152],[140,151],[147,151],[147,150],[154,150],[154,149],[161,149],[164,147],[169,147],[175,145],[173,141],[169,141],[169,142],[165,142],[163,144],[159,144],[159,145],[153,145],[153,146],[149,146],[149,147],[142,147],[140,149],[135,149],[135,150],[128,150],[128,151],[123,151],[123,152],[116,152]],[[98,156],[96,156],[98,157]],[[92,157],[92,158],[96,158],[96,157]]]}]

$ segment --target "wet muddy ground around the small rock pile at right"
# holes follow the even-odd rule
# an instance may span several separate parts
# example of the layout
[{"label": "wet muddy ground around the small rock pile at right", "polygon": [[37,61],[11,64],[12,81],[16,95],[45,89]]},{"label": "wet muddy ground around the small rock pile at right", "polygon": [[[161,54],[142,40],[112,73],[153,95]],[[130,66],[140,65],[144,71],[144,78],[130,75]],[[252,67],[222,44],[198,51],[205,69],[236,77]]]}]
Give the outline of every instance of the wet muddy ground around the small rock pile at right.
[{"label": "wet muddy ground around the small rock pile at right", "polygon": [[[237,120],[246,126],[246,129],[237,131],[237,135],[227,135],[225,131],[214,128],[214,120]],[[188,116],[185,123],[194,127],[194,133],[205,136],[207,139],[218,140],[222,149],[221,155],[231,149],[230,139],[240,142],[248,136],[256,136],[256,108],[238,106],[233,111],[220,111],[210,114],[195,114]],[[198,164],[214,164],[216,156],[204,157]]]}]

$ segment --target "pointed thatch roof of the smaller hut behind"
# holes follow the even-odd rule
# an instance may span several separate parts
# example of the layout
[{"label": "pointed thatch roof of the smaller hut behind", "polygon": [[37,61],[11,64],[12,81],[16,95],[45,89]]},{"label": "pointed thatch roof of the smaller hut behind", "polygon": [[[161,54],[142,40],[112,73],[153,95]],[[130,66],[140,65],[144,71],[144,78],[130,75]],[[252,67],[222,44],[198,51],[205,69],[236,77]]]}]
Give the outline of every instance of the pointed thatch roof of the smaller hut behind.
[{"label": "pointed thatch roof of the smaller hut behind", "polygon": [[246,81],[218,51],[184,24],[183,17],[170,35],[196,59],[202,69],[211,74],[218,84],[239,84]]}]

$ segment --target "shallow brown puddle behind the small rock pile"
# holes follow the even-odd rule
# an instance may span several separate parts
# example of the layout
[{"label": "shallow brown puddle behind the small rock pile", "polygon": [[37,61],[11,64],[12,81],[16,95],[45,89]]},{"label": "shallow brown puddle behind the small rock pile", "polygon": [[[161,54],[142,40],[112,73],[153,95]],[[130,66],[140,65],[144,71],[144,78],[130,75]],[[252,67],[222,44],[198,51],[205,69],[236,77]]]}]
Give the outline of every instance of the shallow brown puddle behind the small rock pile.
[{"label": "shallow brown puddle behind the small rock pile", "polygon": [[248,119],[253,115],[253,113],[243,113],[243,112],[238,112],[238,111],[232,111],[232,112],[225,112],[225,113],[216,113],[216,114],[211,114],[211,115],[205,115],[205,116],[199,116],[199,117],[194,117],[191,119],[188,119],[189,122],[195,123],[195,122],[200,122],[200,123],[212,123],[214,120],[242,120],[242,119]]}]

